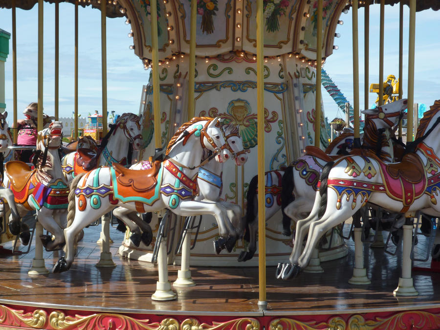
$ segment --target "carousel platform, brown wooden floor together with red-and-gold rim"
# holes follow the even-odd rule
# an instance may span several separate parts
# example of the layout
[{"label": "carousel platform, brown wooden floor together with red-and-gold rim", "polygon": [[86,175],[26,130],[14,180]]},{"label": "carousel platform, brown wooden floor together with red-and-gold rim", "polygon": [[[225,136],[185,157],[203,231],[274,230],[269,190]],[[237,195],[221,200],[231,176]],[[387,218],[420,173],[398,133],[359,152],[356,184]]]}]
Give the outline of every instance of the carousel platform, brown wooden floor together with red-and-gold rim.
[{"label": "carousel platform, brown wooden floor together with red-and-gold rim", "polygon": [[[258,268],[192,267],[196,286],[175,288],[177,299],[153,301],[157,268],[111,254],[114,268],[97,268],[99,227],[85,230],[71,269],[28,276],[34,250],[0,256],[1,327],[20,329],[439,329],[440,291],[436,273],[415,273],[416,297],[396,298],[400,258],[367,249],[370,285],[348,284],[353,252],[322,263],[324,273],[301,273],[283,282],[266,268],[267,309],[258,308]],[[122,233],[111,231],[115,242]],[[347,242],[352,244],[352,242]],[[417,253],[424,242],[419,242]],[[45,252],[51,268],[61,252]],[[219,258],[221,258],[221,255]],[[425,263],[427,264],[427,263]],[[424,266],[425,264],[419,264]],[[179,267],[170,265],[170,280]],[[1,328],[0,327],[0,328]],[[194,327],[194,328],[193,328]],[[281,328],[280,328],[281,327]]]}]

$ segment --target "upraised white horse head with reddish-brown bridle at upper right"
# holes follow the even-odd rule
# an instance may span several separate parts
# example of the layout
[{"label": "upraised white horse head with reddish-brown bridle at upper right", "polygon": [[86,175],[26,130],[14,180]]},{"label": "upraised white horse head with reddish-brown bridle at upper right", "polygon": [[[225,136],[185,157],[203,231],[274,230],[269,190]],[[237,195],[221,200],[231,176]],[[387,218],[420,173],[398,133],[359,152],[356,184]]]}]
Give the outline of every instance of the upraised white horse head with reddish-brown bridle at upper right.
[{"label": "upraised white horse head with reddish-brown bridle at upper right", "polygon": [[362,113],[374,122],[376,129],[389,129],[400,119],[406,118],[406,108],[408,108],[407,99],[401,99],[374,109],[363,110]]}]

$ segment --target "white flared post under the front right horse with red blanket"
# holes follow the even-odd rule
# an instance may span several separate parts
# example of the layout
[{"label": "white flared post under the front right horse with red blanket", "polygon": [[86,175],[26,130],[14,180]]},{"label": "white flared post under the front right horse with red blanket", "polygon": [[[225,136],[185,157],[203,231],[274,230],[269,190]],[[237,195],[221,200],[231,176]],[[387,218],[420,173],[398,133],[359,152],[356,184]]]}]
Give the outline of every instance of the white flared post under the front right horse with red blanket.
[{"label": "white flared post under the front right horse with red blanket", "polygon": [[[405,215],[406,217],[407,215]],[[410,220],[411,219],[411,220]],[[403,225],[403,252],[402,252],[402,277],[399,278],[399,284],[393,291],[395,296],[417,296],[418,292],[414,288],[413,278],[411,277],[411,244],[413,241],[413,223],[412,218],[408,218]]]}]

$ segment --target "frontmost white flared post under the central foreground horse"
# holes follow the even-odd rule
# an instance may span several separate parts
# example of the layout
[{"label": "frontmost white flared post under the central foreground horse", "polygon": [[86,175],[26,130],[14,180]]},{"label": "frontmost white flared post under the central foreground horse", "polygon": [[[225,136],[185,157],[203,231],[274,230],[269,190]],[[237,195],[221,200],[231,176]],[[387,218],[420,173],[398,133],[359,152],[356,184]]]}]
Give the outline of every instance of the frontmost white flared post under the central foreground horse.
[{"label": "frontmost white flared post under the central foreground horse", "polygon": [[[162,221],[168,221],[168,213],[162,218]],[[164,230],[166,234],[166,229]],[[168,280],[168,255],[167,255],[167,236],[164,235],[160,241],[157,254],[157,268],[159,271],[159,280],[156,283],[156,291],[151,296],[152,300],[174,300],[176,293],[171,290],[171,283]]]}]

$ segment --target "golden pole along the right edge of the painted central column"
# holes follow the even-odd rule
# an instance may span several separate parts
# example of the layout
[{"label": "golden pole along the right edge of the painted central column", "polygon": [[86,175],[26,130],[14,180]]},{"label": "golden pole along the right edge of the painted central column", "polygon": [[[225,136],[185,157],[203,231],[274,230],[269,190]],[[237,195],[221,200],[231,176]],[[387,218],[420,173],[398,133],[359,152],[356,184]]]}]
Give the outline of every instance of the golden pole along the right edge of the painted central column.
[{"label": "golden pole along the right edge of the painted central column", "polygon": [[316,93],[315,93],[315,147],[321,145],[321,67],[322,67],[322,0],[316,11]]}]

